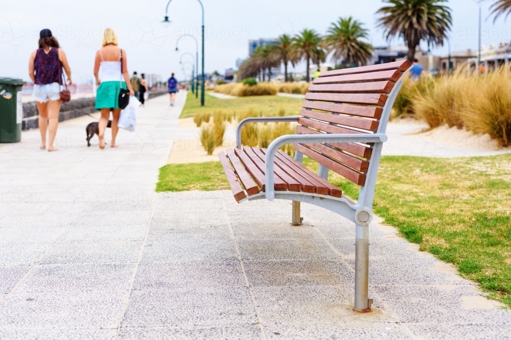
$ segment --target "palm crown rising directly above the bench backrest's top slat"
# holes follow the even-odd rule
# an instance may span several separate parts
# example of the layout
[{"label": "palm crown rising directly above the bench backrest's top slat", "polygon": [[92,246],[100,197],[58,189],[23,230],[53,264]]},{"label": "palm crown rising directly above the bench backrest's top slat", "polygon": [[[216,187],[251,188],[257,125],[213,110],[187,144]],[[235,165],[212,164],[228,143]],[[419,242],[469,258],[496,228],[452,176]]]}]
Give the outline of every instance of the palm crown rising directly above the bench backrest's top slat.
[{"label": "palm crown rising directly above the bench backrest's top slat", "polygon": [[360,66],[366,65],[367,60],[373,56],[373,46],[360,40],[367,37],[368,31],[362,27],[362,23],[350,16],[332,22],[325,37],[325,44],[328,53],[334,52],[332,59],[336,64],[340,61],[344,64],[355,63]]}]

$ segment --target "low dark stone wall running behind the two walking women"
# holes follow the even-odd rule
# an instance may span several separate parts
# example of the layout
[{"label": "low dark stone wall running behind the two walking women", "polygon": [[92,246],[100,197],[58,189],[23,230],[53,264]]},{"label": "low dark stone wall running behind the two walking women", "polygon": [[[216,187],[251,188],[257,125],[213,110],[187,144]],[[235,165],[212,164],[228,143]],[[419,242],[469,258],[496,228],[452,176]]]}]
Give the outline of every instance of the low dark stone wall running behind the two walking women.
[{"label": "low dark stone wall running behind the two walking women", "polygon": [[[149,98],[167,94],[167,91],[149,92]],[[78,98],[64,102],[60,106],[59,122],[84,116],[86,113],[95,113],[96,98]],[[80,111],[76,111],[80,110]],[[23,103],[22,130],[39,127],[39,112],[34,101]]]}]

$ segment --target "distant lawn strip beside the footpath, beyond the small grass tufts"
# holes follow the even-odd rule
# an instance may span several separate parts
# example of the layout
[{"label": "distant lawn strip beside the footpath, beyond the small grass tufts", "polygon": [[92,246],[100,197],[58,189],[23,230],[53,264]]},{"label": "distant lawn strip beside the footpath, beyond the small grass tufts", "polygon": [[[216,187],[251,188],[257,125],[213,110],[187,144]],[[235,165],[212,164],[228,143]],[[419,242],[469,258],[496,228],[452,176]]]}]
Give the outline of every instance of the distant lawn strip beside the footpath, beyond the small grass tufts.
[{"label": "distant lawn strip beside the footpath, beyond the small grass tufts", "polygon": [[179,118],[186,118],[196,113],[210,113],[222,110],[224,112],[248,112],[252,109],[254,112],[262,112],[263,115],[275,115],[279,110],[286,111],[287,116],[297,116],[300,112],[303,99],[288,98],[280,96],[251,96],[238,97],[235,99],[219,99],[208,94],[205,95],[203,107],[200,106],[199,98],[195,98],[192,92],[188,93],[187,102]]}]

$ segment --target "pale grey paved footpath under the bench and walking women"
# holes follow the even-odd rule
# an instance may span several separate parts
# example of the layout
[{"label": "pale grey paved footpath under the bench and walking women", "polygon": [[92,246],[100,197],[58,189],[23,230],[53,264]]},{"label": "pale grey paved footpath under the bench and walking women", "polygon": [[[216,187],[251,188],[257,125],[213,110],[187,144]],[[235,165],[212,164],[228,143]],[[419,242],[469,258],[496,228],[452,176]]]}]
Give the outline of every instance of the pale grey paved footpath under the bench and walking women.
[{"label": "pale grey paved footpath under the bench and walking women", "polygon": [[292,227],[288,201],[156,194],[184,99],[149,100],[116,149],[87,148],[87,117],[58,152],[37,130],[0,146],[0,339],[511,338],[506,309],[391,227],[371,226],[359,314],[341,217],[304,204]]}]

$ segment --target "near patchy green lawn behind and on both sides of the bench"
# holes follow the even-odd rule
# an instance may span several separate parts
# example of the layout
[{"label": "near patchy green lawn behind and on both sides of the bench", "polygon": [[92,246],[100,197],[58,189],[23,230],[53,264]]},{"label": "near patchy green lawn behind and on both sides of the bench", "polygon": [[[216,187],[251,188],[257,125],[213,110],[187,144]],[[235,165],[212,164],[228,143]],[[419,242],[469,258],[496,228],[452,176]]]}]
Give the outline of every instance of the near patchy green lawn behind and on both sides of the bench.
[{"label": "near patchy green lawn behind and on both sides of the bench", "polygon": [[[220,99],[219,99],[220,100]],[[304,164],[317,170],[317,163]],[[157,191],[228,189],[219,162],[166,165]],[[358,187],[330,172],[354,199]],[[511,154],[476,158],[382,157],[374,212],[511,306]]]}]

